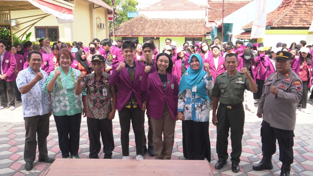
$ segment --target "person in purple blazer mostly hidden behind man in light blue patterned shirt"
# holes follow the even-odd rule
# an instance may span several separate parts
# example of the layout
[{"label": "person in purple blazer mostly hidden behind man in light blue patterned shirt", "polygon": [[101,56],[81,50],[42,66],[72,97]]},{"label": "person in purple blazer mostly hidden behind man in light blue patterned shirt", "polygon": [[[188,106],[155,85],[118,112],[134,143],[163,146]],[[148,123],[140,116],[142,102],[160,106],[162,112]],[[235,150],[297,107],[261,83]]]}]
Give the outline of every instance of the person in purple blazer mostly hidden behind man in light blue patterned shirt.
[{"label": "person in purple blazer mostly hidden behind man in light blue patterned shirt", "polygon": [[[51,56],[48,54],[44,54],[41,50],[40,45],[38,45],[38,44],[34,44],[32,47],[32,50],[38,51],[41,53],[41,55],[42,55],[41,70],[44,70],[45,72],[47,72],[47,74],[49,76],[50,72],[54,70],[54,63],[53,63]],[[28,63],[25,62],[24,69],[27,69],[27,68],[28,68]]]}]

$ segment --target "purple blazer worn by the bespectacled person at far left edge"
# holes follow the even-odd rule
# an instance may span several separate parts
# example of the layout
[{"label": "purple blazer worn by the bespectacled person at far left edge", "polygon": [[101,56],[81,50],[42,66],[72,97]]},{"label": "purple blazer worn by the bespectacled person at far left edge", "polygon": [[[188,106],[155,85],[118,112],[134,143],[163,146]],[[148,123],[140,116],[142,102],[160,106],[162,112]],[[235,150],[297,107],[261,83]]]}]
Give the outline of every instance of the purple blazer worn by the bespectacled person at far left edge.
[{"label": "purple blazer worn by the bespectacled person at far left edge", "polygon": [[[16,68],[16,61],[15,61],[14,55],[11,52],[9,52],[9,51],[4,52],[4,56],[3,56],[3,60],[2,60],[1,65],[2,65],[3,74],[7,75],[5,80],[8,82],[16,80],[16,75],[14,73],[15,68]],[[1,79],[0,79],[0,81],[1,81]]]}]

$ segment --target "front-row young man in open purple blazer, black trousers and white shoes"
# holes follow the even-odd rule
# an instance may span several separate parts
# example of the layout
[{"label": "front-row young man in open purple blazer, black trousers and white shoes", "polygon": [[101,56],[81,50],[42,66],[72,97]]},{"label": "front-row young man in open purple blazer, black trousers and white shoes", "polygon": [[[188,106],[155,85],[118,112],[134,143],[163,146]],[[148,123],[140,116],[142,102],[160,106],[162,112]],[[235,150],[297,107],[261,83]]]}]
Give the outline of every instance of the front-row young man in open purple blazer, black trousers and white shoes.
[{"label": "front-row young man in open purple blazer, black trousers and white shoes", "polygon": [[125,41],[122,45],[125,61],[112,66],[109,83],[119,85],[116,95],[116,109],[121,125],[122,159],[129,159],[129,130],[132,123],[135,133],[136,159],[142,158],[142,111],[146,110],[146,92],[141,91],[142,73],[145,65],[135,62],[135,44]]}]

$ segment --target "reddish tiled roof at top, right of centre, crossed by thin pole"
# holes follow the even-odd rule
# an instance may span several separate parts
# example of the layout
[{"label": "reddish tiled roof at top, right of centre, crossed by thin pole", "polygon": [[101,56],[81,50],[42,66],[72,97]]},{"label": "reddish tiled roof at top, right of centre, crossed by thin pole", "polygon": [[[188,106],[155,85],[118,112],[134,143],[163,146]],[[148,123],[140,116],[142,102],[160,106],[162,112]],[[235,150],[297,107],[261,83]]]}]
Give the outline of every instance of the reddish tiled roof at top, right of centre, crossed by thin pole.
[{"label": "reddish tiled roof at top, right of centre, crossed by thin pole", "polygon": [[[235,12],[239,8],[244,7],[251,1],[225,1],[224,2],[224,18]],[[210,5],[209,21],[220,21],[222,19],[223,1],[208,1]],[[212,9],[211,9],[212,8]],[[220,9],[220,10],[217,10]]]}]

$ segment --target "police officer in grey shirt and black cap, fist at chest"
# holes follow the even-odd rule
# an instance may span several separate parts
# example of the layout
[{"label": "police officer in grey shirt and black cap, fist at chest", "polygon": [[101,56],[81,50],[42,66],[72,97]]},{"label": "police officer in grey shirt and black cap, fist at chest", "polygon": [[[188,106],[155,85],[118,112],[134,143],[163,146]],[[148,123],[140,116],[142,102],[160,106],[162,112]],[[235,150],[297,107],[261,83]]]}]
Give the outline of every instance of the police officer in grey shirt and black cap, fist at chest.
[{"label": "police officer in grey shirt and black cap, fist at chest", "polygon": [[[293,137],[297,103],[302,97],[302,81],[291,68],[292,54],[287,51],[276,53],[277,72],[270,75],[263,86],[257,116],[262,118],[261,141],[263,158],[253,166],[253,170],[272,169],[272,155],[276,152],[276,139],[279,145],[281,176],[290,175],[293,163]],[[263,111],[264,110],[264,111]],[[266,110],[266,111],[265,111]]]}]

